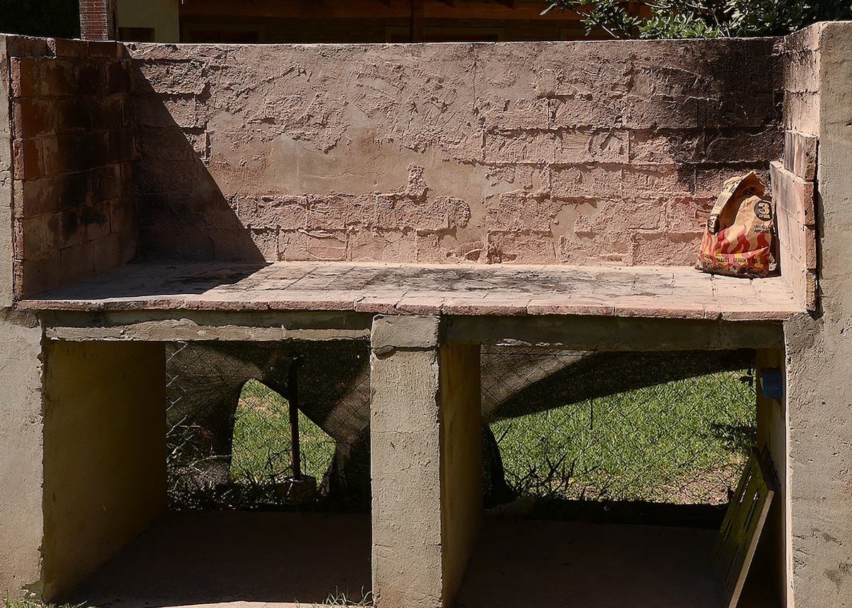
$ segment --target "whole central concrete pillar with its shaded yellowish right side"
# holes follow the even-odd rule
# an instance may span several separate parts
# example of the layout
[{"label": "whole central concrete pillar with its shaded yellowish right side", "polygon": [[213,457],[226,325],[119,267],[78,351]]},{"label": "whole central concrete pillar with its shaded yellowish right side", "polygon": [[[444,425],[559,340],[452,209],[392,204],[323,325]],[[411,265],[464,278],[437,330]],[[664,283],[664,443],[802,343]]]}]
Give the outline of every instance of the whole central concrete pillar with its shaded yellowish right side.
[{"label": "whole central concrete pillar with its shaded yellowish right side", "polygon": [[372,579],[380,608],[445,606],[481,524],[479,345],[378,316],[371,354]]}]

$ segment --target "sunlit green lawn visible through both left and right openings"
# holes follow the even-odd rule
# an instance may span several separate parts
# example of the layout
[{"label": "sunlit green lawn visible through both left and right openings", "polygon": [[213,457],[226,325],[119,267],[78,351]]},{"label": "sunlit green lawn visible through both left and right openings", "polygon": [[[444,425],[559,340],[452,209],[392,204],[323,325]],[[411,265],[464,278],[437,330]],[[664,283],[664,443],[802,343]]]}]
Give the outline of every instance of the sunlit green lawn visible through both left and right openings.
[{"label": "sunlit green lawn visible through both left and right openings", "polygon": [[[518,495],[568,500],[721,504],[754,443],[745,372],[713,373],[562,405],[492,425]],[[334,441],[299,415],[302,473],[319,481]],[[289,478],[288,406],[250,380],[240,397],[230,479],[235,489]],[[253,498],[251,500],[254,500]],[[272,500],[274,502],[274,500]]]}]

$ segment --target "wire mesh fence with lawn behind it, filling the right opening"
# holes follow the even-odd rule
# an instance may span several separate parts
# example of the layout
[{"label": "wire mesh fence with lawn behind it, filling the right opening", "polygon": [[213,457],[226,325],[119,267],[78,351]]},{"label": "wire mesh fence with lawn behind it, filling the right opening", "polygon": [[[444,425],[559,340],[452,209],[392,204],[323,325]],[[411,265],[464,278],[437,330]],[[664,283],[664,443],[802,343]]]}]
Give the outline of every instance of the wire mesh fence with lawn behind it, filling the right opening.
[{"label": "wire mesh fence with lawn behind it, filling the right opening", "polygon": [[755,442],[748,350],[484,349],[482,362],[483,407],[516,495],[722,504]]}]

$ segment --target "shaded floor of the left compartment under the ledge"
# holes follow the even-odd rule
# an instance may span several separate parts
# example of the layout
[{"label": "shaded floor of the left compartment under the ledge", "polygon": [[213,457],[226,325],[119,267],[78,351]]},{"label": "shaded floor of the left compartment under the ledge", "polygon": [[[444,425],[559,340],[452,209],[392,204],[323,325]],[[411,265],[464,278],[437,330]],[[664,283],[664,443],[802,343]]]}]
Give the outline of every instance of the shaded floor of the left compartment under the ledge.
[{"label": "shaded floor of the left compartment under the ledge", "polygon": [[370,518],[176,512],[75,592],[101,608],[302,606],[371,586]]}]

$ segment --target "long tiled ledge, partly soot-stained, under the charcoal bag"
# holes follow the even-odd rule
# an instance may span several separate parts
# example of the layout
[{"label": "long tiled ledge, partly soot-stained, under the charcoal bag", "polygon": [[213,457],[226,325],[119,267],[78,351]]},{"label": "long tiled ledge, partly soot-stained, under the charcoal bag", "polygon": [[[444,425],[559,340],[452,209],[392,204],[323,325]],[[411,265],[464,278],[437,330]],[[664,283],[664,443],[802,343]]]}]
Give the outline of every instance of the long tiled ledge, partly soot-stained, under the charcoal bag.
[{"label": "long tiled ledge, partly soot-stained, under the charcoal bag", "polygon": [[803,313],[780,277],[688,267],[366,263],[131,263],[18,303],[26,310],[329,310],[459,316],[783,321]]}]

